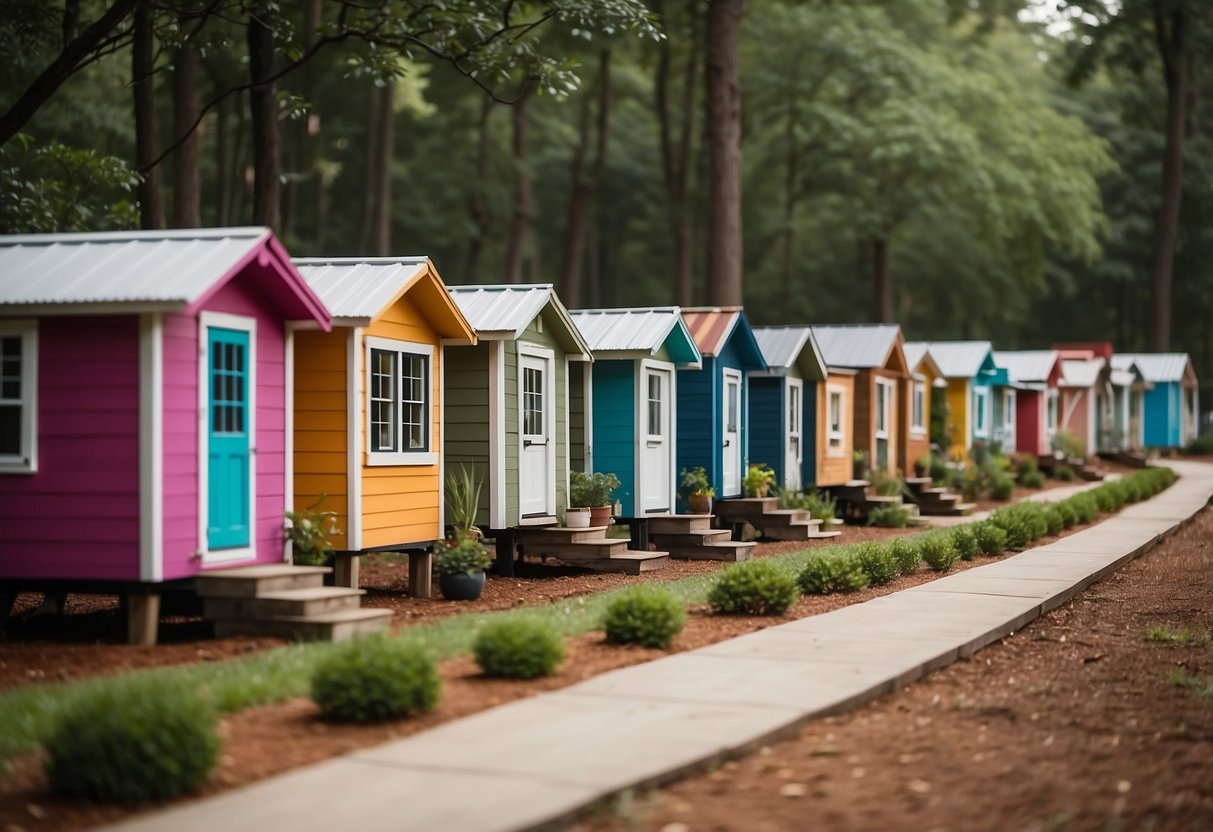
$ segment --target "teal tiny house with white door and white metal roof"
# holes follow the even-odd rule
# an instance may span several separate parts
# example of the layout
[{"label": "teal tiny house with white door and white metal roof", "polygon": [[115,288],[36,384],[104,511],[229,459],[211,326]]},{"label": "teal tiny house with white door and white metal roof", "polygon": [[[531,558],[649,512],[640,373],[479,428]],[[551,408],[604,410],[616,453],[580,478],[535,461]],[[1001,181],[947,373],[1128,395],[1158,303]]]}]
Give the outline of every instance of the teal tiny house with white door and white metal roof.
[{"label": "teal tiny house with white door and white metal roof", "polygon": [[668,514],[678,490],[676,372],[702,358],[678,307],[571,313],[594,357],[586,384],[585,469],[614,473],[622,514]]}]

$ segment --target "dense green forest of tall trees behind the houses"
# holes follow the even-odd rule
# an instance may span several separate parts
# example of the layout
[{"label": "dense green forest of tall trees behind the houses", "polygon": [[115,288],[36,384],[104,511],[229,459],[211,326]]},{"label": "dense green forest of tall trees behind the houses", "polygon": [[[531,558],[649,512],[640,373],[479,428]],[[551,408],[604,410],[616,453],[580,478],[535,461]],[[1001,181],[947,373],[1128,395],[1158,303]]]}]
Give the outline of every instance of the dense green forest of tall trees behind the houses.
[{"label": "dense green forest of tall trees behind the houses", "polygon": [[1189,352],[1205,0],[0,0],[0,233],[268,224],[574,308]]}]

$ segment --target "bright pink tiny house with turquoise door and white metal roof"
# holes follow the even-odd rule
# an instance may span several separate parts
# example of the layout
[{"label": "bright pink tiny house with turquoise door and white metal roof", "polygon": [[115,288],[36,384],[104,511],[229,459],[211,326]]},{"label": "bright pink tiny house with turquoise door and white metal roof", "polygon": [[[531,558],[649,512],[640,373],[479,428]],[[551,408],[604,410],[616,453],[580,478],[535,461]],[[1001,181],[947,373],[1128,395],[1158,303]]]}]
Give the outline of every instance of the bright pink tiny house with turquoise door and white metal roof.
[{"label": "bright pink tiny house with turquoise door and white metal roof", "polygon": [[0,237],[0,614],[283,562],[291,321],[330,326],[264,228]]}]

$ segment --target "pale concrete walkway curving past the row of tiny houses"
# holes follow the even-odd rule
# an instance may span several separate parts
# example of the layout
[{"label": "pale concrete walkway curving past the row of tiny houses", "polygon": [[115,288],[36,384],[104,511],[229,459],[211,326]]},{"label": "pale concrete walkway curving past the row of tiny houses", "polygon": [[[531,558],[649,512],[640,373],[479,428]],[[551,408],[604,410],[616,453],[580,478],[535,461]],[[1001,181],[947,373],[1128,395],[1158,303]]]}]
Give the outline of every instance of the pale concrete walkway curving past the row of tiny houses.
[{"label": "pale concrete walkway curving past the row of tiny houses", "polygon": [[895,690],[1023,627],[1213,495],[1213,466],[1064,540],[929,583],[596,677],[110,828],[528,830]]}]

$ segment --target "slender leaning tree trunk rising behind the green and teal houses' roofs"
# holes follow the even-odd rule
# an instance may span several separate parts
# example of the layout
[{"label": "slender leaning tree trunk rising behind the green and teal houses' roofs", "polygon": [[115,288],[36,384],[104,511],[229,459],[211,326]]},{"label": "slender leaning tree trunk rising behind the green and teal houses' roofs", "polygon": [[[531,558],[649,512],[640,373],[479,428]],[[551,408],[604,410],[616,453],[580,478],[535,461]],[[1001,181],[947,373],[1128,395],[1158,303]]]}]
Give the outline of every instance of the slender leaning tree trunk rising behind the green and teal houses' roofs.
[{"label": "slender leaning tree trunk rising behind the green and teal houses' roofs", "polygon": [[569,200],[569,224],[564,232],[564,257],[560,263],[560,300],[570,308],[581,306],[581,266],[585,255],[586,216],[594,189],[606,167],[606,143],[610,136],[610,50],[603,50],[598,62],[597,146],[590,171],[585,169],[586,147],[590,144],[590,98],[582,101],[581,130],[573,154],[573,195]]}]

